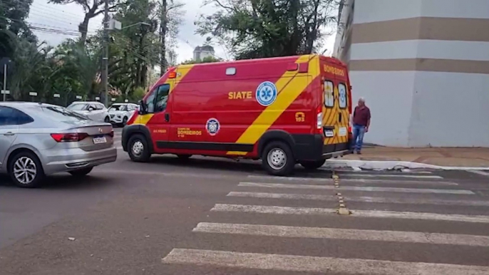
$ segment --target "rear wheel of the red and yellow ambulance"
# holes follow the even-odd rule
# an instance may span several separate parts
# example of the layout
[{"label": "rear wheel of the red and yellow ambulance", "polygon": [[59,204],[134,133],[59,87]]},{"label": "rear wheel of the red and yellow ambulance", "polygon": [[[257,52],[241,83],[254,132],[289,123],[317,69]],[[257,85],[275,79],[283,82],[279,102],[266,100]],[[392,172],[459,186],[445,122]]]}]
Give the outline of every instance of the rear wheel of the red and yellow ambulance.
[{"label": "rear wheel of the red and yellow ambulance", "polygon": [[270,175],[285,176],[294,170],[295,160],[289,145],[274,141],[265,146],[262,166]]}]

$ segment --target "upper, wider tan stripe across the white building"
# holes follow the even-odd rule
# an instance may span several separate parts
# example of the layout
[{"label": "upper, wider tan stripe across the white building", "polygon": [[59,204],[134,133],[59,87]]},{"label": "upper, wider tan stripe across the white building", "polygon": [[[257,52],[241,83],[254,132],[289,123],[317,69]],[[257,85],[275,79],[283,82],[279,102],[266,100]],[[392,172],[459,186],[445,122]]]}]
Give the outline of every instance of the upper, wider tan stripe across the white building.
[{"label": "upper, wider tan stripe across the white building", "polygon": [[417,17],[354,24],[351,43],[416,39],[489,41],[489,19]]}]

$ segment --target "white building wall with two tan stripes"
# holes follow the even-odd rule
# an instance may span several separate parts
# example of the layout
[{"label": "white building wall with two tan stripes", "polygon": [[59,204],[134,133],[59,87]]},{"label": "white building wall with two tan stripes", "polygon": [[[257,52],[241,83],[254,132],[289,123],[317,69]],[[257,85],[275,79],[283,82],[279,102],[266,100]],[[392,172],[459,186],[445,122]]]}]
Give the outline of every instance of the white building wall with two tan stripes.
[{"label": "white building wall with two tan stripes", "polygon": [[365,141],[489,147],[489,1],[346,2],[334,56],[371,108]]}]

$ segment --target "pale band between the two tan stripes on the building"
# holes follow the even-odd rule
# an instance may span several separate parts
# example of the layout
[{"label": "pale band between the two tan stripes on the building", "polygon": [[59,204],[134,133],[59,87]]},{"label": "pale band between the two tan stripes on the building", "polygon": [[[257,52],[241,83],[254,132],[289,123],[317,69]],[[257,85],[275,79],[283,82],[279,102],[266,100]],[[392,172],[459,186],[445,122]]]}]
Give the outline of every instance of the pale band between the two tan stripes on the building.
[{"label": "pale band between the two tan stripes on the building", "polygon": [[489,42],[404,40],[351,45],[350,61],[372,59],[433,58],[489,61]]}]

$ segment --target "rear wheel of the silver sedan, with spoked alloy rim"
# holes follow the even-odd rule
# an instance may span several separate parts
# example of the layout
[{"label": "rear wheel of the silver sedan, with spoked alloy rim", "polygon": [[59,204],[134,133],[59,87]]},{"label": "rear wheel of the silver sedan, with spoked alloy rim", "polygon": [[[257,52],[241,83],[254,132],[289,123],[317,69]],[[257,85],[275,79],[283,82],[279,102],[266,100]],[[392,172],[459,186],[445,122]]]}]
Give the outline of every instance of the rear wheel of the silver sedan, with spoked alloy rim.
[{"label": "rear wheel of the silver sedan, with spoked alloy rim", "polygon": [[44,171],[38,157],[33,152],[25,151],[9,161],[9,175],[16,186],[34,188],[43,180]]}]

